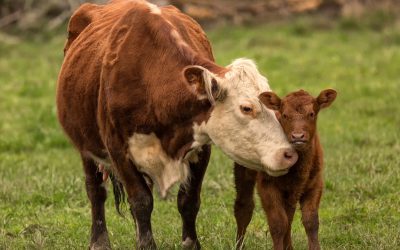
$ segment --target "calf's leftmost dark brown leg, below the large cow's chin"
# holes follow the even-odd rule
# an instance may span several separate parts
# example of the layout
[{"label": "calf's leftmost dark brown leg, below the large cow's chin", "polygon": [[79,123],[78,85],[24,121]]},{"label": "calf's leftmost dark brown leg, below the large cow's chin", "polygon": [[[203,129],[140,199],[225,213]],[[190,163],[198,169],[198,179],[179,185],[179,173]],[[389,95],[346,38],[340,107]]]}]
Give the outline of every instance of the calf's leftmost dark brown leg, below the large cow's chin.
[{"label": "calf's leftmost dark brown leg, below the large cow's chin", "polygon": [[236,249],[243,247],[243,239],[254,210],[254,186],[257,172],[235,163],[235,219],[237,225]]}]

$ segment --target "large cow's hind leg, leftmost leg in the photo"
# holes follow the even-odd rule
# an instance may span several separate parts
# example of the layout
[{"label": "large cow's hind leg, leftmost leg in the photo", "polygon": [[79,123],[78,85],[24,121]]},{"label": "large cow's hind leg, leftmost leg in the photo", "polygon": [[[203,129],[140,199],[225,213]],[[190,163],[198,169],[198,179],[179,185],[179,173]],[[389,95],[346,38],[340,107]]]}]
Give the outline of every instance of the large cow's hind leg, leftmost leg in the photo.
[{"label": "large cow's hind leg, leftmost leg in the photo", "polygon": [[86,175],[86,191],[92,206],[90,249],[111,249],[104,211],[107,190],[103,185],[103,174],[97,171],[97,166],[92,159],[82,156],[82,161]]}]

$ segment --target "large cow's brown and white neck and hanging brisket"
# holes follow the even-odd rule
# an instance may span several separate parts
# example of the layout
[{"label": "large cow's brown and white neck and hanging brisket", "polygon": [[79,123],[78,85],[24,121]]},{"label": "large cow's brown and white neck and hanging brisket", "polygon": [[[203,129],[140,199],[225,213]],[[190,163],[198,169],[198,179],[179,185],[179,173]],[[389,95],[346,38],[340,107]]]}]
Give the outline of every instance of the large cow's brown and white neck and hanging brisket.
[{"label": "large cow's brown and white neck and hanging brisket", "polygon": [[138,170],[147,174],[165,197],[176,182],[185,183],[190,163],[196,163],[203,145],[209,143],[205,132],[211,105],[198,103],[182,107],[181,112],[192,112],[185,119],[176,120],[158,130],[129,138],[129,155]]}]

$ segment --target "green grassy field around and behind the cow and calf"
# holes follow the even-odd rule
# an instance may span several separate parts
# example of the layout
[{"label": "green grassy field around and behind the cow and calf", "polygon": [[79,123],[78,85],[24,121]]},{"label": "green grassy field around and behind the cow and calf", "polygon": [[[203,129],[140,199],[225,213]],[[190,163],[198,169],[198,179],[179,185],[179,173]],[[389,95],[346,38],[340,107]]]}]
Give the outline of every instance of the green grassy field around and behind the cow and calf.
[{"label": "green grassy field around and behind the cow and calf", "polygon": [[[334,105],[319,117],[326,163],[323,249],[400,246],[400,25],[382,22],[300,18],[208,32],[219,64],[254,59],[279,95],[299,88],[314,95],[328,87],[338,91]],[[0,249],[88,246],[83,171],[56,121],[63,43],[64,35],[0,43]],[[232,162],[214,148],[197,224],[204,249],[234,247],[232,170]],[[167,201],[155,200],[152,222],[160,249],[180,248],[176,191]],[[109,194],[112,245],[132,249],[133,221],[126,207],[126,218],[117,215]],[[267,228],[257,199],[247,249],[272,247]],[[292,234],[295,249],[306,249],[299,213]]]}]

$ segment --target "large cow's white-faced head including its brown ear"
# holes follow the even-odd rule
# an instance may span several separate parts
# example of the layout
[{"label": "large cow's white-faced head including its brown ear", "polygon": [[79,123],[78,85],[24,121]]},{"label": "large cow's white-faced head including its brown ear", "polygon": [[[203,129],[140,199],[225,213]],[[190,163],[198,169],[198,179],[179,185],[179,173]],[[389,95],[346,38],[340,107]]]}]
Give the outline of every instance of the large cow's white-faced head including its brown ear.
[{"label": "large cow's white-faced head including its brown ear", "polygon": [[260,102],[270,88],[251,60],[234,61],[223,76],[200,66],[187,67],[184,75],[198,98],[213,104],[203,134],[239,164],[273,176],[288,172],[297,153],[274,112]]}]

